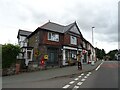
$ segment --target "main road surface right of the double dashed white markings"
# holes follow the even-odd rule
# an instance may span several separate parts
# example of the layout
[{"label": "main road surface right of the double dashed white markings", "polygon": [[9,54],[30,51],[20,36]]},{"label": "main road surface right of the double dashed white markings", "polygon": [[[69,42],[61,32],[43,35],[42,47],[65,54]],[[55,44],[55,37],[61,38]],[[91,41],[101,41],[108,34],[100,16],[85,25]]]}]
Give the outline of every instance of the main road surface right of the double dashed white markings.
[{"label": "main road surface right of the double dashed white markings", "polygon": [[118,62],[107,61],[101,64],[80,88],[118,88]]}]

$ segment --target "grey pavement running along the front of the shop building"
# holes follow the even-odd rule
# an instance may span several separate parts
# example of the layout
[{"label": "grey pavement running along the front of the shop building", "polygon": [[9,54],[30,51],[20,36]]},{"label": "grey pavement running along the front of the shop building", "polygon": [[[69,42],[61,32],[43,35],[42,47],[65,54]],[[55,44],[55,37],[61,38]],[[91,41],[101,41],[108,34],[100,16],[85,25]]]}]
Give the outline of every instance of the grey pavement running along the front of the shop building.
[{"label": "grey pavement running along the front of the shop building", "polygon": [[36,81],[36,80],[41,81],[51,78],[65,77],[65,76],[77,75],[77,74],[79,75],[83,72],[89,72],[96,69],[97,66],[101,63],[102,61],[99,60],[95,63],[95,65],[83,64],[82,70],[78,70],[76,65],[76,66],[66,66],[62,68],[52,68],[52,69],[36,71],[36,72],[26,72],[13,76],[5,76],[2,77],[2,83],[7,84],[7,83],[17,83],[24,81],[25,82]]}]

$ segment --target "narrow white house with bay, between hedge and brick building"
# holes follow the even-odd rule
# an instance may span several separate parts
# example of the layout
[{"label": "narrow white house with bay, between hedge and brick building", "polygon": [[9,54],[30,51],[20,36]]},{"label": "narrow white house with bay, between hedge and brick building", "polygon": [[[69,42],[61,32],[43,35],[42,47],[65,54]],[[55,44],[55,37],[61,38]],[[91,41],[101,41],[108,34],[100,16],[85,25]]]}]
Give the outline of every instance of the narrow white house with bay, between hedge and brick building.
[{"label": "narrow white house with bay, between hedge and brick building", "polygon": [[18,31],[18,44],[21,47],[21,53],[18,55],[18,59],[25,59],[25,64],[28,66],[29,61],[32,61],[33,57],[33,47],[28,47],[27,43],[27,37],[31,34],[32,32],[26,31],[26,30],[21,30],[19,29]]}]

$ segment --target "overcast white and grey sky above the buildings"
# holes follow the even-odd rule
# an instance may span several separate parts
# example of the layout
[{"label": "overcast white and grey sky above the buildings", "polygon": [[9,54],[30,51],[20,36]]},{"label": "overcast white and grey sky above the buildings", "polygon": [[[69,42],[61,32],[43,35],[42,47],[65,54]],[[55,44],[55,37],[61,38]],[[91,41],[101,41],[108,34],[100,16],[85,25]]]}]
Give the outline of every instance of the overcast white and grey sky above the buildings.
[{"label": "overcast white and grey sky above the buildings", "polygon": [[19,29],[34,31],[49,20],[77,22],[83,37],[107,52],[118,49],[119,0],[0,0],[0,44],[17,44]]}]

